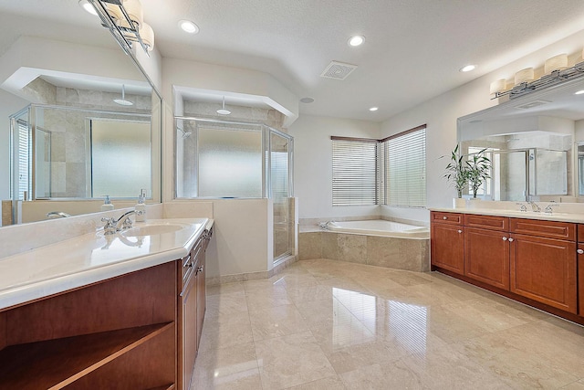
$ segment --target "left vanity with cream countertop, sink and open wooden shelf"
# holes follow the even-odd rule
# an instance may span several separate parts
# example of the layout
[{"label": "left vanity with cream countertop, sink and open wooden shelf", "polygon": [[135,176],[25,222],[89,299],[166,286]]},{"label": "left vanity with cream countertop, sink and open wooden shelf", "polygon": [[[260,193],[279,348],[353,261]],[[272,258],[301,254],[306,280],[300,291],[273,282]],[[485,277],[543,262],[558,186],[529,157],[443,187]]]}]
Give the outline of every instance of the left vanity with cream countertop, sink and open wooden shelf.
[{"label": "left vanity with cream countertop, sink and open wooden shelf", "polygon": [[188,389],[213,220],[149,220],[0,259],[0,388]]}]

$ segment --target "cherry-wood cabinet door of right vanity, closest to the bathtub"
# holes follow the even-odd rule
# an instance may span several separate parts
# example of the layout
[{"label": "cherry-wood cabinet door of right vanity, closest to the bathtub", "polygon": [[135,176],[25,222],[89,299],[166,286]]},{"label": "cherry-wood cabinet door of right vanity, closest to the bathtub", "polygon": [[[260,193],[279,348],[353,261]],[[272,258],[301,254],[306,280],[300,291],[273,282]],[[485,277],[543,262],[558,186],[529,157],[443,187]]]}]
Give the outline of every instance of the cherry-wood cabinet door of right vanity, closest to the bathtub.
[{"label": "cherry-wood cabinet door of right vanity, closest to the bathtub", "polygon": [[464,227],[432,224],[432,265],[464,275]]}]

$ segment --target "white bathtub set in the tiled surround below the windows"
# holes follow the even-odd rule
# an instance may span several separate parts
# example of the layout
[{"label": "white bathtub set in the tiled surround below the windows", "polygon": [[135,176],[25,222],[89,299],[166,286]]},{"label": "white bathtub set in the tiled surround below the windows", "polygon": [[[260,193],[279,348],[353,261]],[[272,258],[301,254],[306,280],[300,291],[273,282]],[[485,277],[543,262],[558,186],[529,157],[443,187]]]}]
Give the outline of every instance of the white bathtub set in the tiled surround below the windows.
[{"label": "white bathtub set in the tiled surround below the windows", "polygon": [[344,222],[331,221],[325,224],[325,228],[338,233],[354,233],[368,236],[414,239],[428,239],[430,237],[430,229],[428,227],[416,227],[399,222],[385,221],[383,219]]}]

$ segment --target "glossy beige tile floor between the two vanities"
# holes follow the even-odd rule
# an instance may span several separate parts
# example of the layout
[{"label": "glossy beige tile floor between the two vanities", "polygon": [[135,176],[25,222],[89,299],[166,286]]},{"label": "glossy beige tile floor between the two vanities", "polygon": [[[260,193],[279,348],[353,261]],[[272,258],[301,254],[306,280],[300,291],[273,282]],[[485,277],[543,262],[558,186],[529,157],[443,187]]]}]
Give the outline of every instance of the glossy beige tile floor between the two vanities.
[{"label": "glossy beige tile floor between the two vanities", "polygon": [[584,327],[437,273],[302,260],[208,289],[196,389],[584,389]]}]

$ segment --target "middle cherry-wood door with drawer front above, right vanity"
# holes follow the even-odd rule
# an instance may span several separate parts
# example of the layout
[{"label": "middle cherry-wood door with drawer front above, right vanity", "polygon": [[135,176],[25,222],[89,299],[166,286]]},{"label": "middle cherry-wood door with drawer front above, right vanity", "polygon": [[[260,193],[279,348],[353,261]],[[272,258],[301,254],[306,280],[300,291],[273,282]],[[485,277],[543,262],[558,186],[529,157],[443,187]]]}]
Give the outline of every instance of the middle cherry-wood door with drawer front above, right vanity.
[{"label": "middle cherry-wood door with drawer front above, right vanity", "polygon": [[509,290],[509,218],[464,215],[464,275]]}]

